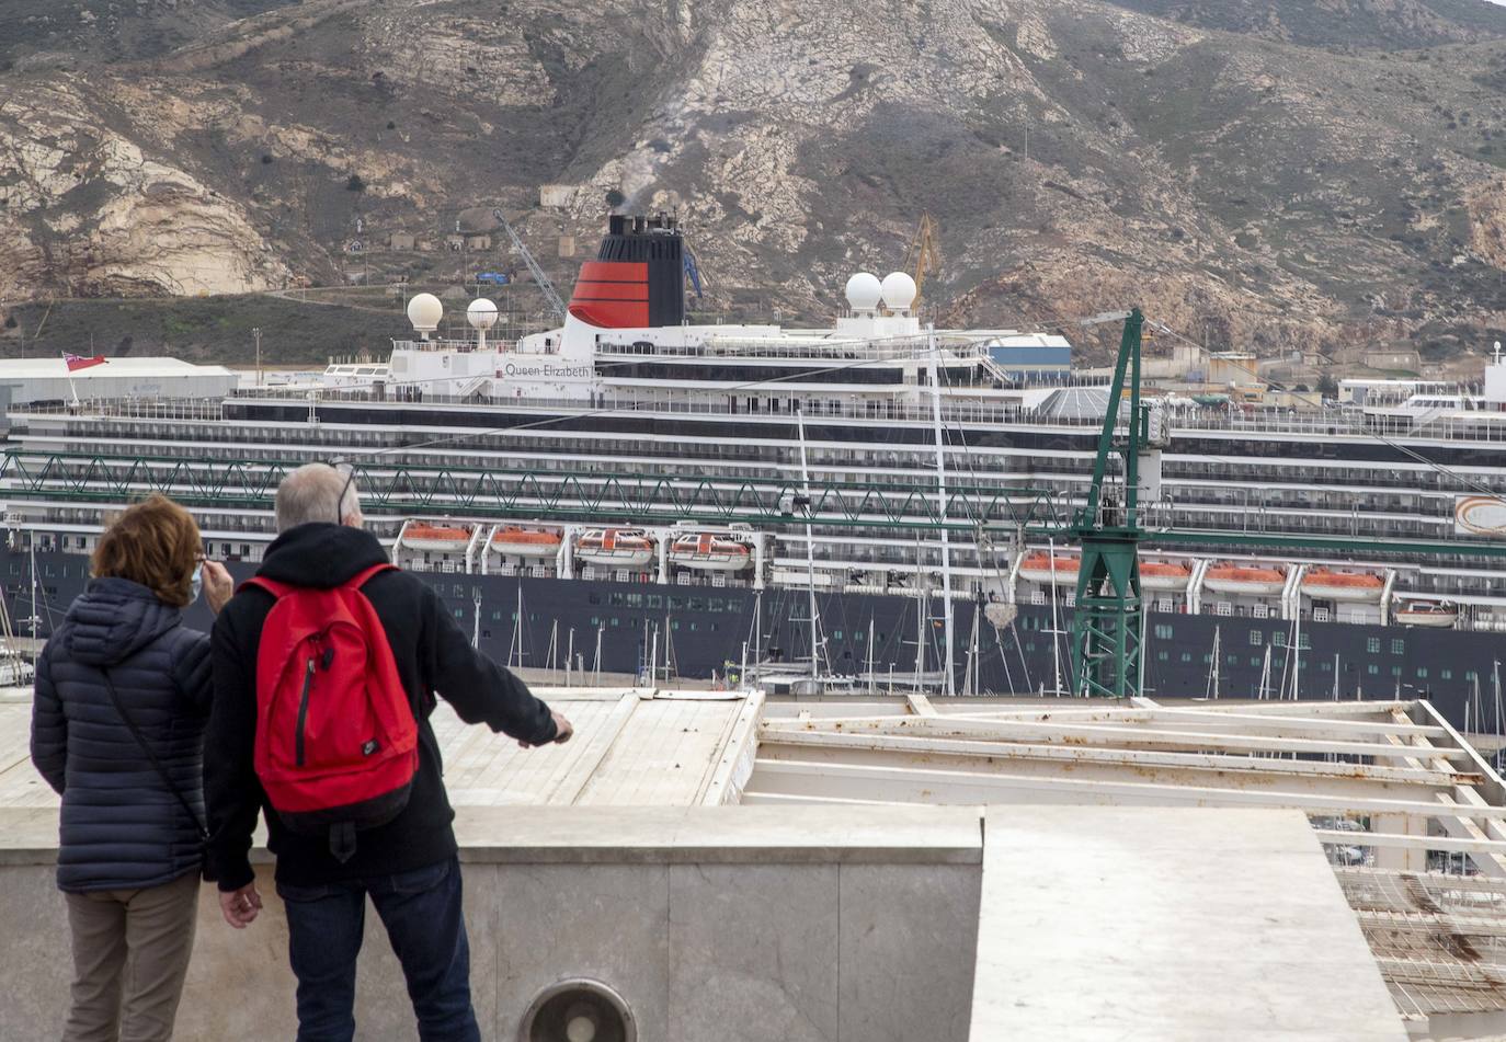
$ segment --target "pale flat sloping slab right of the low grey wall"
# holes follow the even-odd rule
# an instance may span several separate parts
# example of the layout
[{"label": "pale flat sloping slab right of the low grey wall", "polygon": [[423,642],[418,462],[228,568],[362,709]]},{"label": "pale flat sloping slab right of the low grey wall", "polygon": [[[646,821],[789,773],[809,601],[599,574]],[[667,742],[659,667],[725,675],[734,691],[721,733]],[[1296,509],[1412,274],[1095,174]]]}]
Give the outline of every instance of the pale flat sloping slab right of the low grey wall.
[{"label": "pale flat sloping slab right of the low grey wall", "polygon": [[970,1042],[1402,1042],[1288,810],[989,807]]}]

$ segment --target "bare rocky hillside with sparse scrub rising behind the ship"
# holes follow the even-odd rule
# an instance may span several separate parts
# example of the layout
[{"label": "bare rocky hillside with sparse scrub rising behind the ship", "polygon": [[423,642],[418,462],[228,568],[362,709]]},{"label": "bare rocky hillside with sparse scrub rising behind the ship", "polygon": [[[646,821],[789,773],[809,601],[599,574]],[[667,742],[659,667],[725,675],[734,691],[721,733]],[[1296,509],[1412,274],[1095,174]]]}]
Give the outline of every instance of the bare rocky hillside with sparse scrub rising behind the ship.
[{"label": "bare rocky hillside with sparse scrub rising behind the ship", "polygon": [[1483,0],[0,0],[0,301],[444,288],[492,206],[568,285],[622,203],[711,310],[828,315],[929,212],[944,322],[1506,333]]}]

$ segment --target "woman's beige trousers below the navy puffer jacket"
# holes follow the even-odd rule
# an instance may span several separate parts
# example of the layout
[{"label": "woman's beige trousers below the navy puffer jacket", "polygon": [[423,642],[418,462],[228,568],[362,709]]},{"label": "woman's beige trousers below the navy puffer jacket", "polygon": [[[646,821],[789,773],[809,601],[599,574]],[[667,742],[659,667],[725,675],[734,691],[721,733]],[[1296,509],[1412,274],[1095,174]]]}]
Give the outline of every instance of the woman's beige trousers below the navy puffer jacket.
[{"label": "woman's beige trousers below the navy puffer jacket", "polygon": [[63,1042],[167,1042],[199,920],[199,875],[69,893],[72,1009]]}]

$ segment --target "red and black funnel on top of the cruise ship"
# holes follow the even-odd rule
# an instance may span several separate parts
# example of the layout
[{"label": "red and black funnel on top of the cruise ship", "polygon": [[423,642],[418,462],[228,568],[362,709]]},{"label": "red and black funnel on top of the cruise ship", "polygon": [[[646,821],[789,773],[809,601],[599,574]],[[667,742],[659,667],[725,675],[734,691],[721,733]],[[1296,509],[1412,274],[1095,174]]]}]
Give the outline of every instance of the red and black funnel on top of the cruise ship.
[{"label": "red and black funnel on top of the cruise ship", "polygon": [[685,321],[685,241],[667,214],[613,214],[595,260],[580,267],[569,313],[611,330]]}]

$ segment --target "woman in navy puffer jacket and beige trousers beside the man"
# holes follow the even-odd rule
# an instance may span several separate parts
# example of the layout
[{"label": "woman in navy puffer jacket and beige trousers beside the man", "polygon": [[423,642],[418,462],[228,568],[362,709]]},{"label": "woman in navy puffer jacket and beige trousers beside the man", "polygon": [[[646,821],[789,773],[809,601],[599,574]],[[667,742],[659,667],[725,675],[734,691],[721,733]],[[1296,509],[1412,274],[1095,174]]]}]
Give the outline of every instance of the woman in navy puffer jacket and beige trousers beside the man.
[{"label": "woman in navy puffer jacket and beige trousers beside the man", "polygon": [[209,714],[209,637],[181,608],[202,581],[218,613],[232,583],[161,495],[105,530],[92,572],[36,663],[32,709],[32,762],[63,798],[63,1039],[169,1039],[193,950]]}]

